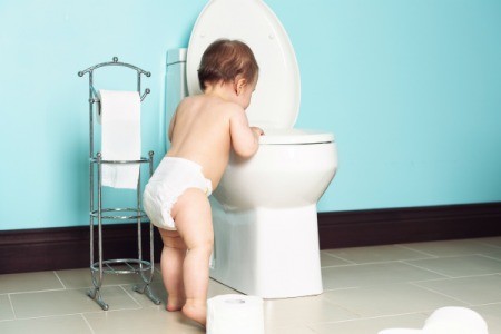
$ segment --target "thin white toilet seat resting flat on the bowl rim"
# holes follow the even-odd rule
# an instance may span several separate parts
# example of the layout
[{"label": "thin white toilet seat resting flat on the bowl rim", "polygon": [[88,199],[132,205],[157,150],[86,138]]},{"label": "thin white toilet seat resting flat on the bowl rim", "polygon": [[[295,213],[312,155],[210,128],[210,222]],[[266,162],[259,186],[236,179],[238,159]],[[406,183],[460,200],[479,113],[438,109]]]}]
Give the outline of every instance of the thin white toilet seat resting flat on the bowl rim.
[{"label": "thin white toilet seat resting flat on the bowl rim", "polygon": [[325,131],[305,129],[264,129],[259,145],[301,145],[335,141],[334,135]]}]

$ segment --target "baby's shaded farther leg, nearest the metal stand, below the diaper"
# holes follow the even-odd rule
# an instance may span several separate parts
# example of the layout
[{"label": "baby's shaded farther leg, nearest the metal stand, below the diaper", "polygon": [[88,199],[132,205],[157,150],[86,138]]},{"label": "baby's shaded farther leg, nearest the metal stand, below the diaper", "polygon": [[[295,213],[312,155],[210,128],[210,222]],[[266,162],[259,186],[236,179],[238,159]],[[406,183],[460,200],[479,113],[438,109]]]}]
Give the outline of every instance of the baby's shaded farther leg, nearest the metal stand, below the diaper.
[{"label": "baby's shaded farther leg, nearest the metal stand, below the diaper", "polygon": [[167,311],[179,311],[185,305],[185,286],[183,283],[183,263],[186,255],[186,245],[176,230],[158,229],[164,249],[161,250],[161,276],[167,289]]}]

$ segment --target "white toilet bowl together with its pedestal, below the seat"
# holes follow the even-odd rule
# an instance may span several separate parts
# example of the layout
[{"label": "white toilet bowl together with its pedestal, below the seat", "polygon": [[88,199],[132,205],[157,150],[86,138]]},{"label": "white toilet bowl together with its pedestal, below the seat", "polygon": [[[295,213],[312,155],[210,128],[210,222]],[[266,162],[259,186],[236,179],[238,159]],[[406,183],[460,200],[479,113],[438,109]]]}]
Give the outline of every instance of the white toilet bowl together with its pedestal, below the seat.
[{"label": "white toilet bowl together with its pedestal, below the seat", "polygon": [[212,200],[210,276],[263,298],[321,294],[316,203],[336,168],[334,143],[261,145],[250,159],[232,156]]}]

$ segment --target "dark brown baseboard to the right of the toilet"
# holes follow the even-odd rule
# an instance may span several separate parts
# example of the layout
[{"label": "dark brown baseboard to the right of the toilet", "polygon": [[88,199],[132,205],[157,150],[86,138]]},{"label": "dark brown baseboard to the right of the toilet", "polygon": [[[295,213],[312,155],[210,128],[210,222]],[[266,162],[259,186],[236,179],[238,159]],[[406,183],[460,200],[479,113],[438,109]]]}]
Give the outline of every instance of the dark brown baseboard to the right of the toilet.
[{"label": "dark brown baseboard to the right of the toilet", "polygon": [[318,214],[322,249],[501,235],[501,203]]}]

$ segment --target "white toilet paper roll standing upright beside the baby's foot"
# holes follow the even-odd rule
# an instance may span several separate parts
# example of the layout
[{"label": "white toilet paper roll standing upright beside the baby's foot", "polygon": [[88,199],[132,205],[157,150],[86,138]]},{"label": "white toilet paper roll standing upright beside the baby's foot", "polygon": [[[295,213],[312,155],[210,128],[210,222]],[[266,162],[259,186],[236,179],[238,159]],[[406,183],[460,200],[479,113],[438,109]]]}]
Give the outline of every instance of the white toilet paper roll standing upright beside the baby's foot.
[{"label": "white toilet paper roll standing upright beside the baby's foot", "polygon": [[264,334],[263,299],[220,295],[207,301],[207,334]]}]

